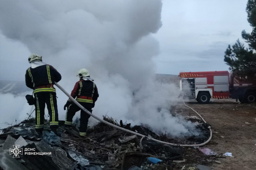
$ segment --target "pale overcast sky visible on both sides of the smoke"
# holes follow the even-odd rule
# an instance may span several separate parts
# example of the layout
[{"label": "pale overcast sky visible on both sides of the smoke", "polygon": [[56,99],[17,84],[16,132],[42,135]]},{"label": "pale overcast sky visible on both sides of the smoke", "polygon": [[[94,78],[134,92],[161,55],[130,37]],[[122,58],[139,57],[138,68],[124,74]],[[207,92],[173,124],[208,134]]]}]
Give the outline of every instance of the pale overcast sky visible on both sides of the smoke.
[{"label": "pale overcast sky visible on both sides of the smoke", "polygon": [[[247,0],[163,0],[163,26],[154,35],[161,49],[154,58],[157,73],[177,75],[179,71],[228,70],[223,61],[225,49],[237,38],[243,42],[243,29],[251,31],[246,4]],[[29,55],[25,45],[1,33],[0,78],[12,79],[5,74],[3,66],[20,65],[22,70],[11,68],[9,71],[24,72],[29,66],[26,59]],[[17,56],[19,60],[12,60]],[[20,76],[20,80],[23,78]]]}]

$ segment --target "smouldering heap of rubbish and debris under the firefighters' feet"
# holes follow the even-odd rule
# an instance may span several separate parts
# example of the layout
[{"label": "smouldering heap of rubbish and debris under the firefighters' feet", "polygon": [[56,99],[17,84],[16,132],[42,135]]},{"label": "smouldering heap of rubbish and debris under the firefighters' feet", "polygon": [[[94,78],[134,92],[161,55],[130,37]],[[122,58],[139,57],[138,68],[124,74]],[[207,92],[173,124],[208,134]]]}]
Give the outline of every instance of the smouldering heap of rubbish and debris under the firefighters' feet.
[{"label": "smouldering heap of rubbish and debris under the firefighters' feet", "polygon": [[[35,148],[38,152],[52,153],[51,155],[36,155],[35,157],[23,154],[20,155],[20,159],[23,161],[10,159],[15,161],[13,165],[19,163],[24,169],[47,169],[50,166],[60,170],[139,170],[141,168],[152,169],[155,166],[158,166],[157,169],[166,169],[167,166],[179,167],[180,165],[174,163],[173,160],[188,157],[188,155],[195,154],[194,152],[197,153],[196,159],[198,160],[195,160],[195,157],[192,156],[193,163],[199,162],[205,157],[195,148],[172,147],[167,144],[153,142],[150,138],[178,144],[195,144],[206,141],[209,134],[203,138],[192,136],[187,139],[172,139],[168,133],[157,134],[145,126],[131,127],[131,124],[122,121],[119,124],[108,116],[103,117],[103,119],[148,137],[131,135],[102,122],[98,122],[98,124],[89,128],[86,137],[80,137],[78,133],[79,120],[77,119],[74,121],[72,128],[65,128],[64,121],[59,121],[58,131],[62,132],[60,138],[50,132],[49,122],[45,121],[43,138],[39,139],[34,129],[34,119],[29,119],[2,130],[0,139],[4,141],[1,141],[0,144],[2,144],[2,150],[8,149],[9,152],[12,145],[19,144],[19,141],[22,141],[22,144],[19,145],[23,150],[25,148]],[[207,127],[206,124],[198,123],[198,128],[204,133],[207,132]],[[11,155],[2,151],[1,155],[11,157]],[[49,156],[52,159],[49,159]],[[33,159],[37,161],[33,161]],[[45,161],[47,161],[47,165]],[[28,165],[28,163],[30,164]],[[190,163],[189,160],[186,163]],[[2,163],[0,166],[6,165]]]}]

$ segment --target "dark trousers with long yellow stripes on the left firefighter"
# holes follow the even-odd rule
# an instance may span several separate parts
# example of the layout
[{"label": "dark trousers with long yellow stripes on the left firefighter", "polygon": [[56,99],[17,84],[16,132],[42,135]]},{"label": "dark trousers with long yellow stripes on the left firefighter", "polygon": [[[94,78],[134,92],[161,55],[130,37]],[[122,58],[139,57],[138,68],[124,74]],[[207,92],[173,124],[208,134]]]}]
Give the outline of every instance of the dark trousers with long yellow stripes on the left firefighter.
[{"label": "dark trousers with long yellow stripes on the left firefighter", "polygon": [[35,128],[43,130],[45,120],[45,104],[50,116],[50,128],[58,128],[58,108],[55,93],[35,93]]}]

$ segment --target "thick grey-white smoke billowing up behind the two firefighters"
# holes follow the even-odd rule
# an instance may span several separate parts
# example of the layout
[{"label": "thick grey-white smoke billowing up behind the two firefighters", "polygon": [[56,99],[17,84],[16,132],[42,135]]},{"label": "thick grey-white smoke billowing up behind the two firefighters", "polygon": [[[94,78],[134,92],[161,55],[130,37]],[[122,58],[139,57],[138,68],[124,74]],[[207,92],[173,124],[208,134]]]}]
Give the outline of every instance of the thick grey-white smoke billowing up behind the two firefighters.
[{"label": "thick grey-white smoke billowing up behind the two firefighters", "polygon": [[[168,111],[167,99],[178,90],[153,82],[152,58],[159,45],[152,34],[161,27],[161,7],[160,0],[1,1],[0,24],[6,37],[54,66],[67,91],[78,81],[79,69],[88,69],[100,95],[94,114],[108,112],[117,120],[178,136],[193,127]],[[64,120],[67,97],[60,90],[57,96],[59,119]]]}]

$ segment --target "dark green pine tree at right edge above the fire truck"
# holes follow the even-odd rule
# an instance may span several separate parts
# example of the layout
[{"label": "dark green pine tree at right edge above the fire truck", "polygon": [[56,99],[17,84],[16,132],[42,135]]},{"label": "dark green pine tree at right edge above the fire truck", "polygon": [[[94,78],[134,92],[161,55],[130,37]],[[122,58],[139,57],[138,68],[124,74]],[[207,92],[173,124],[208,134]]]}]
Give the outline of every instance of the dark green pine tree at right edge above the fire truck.
[{"label": "dark green pine tree at right edge above the fire truck", "polygon": [[246,12],[248,22],[252,26],[252,33],[242,31],[242,38],[248,43],[249,48],[237,40],[233,46],[228,45],[225,51],[224,62],[230,70],[241,79],[256,82],[256,0],[248,0]]}]

